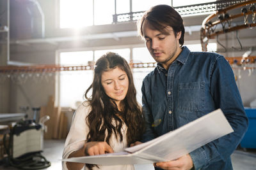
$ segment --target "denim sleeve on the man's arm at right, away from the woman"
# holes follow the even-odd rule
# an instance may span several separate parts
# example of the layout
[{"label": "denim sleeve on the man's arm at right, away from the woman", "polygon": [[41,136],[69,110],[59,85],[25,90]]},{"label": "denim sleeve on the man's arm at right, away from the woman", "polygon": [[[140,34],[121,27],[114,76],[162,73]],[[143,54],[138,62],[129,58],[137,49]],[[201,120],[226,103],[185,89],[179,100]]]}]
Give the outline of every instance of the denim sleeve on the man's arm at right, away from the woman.
[{"label": "denim sleeve on the man's arm at right, away from the woman", "polygon": [[248,127],[248,118],[233,71],[227,60],[221,55],[212,62],[210,80],[210,93],[215,107],[216,109],[221,108],[234,132],[189,153],[195,169],[202,167],[207,169],[209,164],[227,160],[236,150]]}]

